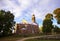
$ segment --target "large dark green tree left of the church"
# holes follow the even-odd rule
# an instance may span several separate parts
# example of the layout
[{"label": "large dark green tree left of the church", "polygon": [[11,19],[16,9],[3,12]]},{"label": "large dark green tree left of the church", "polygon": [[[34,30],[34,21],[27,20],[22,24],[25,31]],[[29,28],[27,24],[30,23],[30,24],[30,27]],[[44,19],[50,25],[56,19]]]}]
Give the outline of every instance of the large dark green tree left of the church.
[{"label": "large dark green tree left of the church", "polygon": [[3,35],[11,34],[14,24],[14,15],[10,11],[0,10],[0,33]]}]

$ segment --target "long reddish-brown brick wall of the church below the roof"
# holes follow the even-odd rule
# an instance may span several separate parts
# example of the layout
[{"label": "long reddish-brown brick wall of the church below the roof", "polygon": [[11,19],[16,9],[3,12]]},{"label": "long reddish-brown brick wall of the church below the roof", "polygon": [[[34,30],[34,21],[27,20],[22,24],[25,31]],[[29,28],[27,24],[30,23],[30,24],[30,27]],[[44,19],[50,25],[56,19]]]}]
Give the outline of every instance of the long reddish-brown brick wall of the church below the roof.
[{"label": "long reddish-brown brick wall of the church below the roof", "polygon": [[39,27],[37,25],[32,25],[32,24],[17,24],[16,33],[17,34],[36,34],[36,33],[39,33],[38,28]]}]

